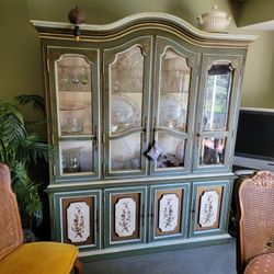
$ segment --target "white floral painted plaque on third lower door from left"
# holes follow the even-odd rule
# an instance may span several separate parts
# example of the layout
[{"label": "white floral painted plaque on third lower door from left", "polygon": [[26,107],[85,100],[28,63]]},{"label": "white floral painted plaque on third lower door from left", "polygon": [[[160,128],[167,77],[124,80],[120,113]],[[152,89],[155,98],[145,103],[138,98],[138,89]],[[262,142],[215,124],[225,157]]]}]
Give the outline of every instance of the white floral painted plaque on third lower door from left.
[{"label": "white floral painted plaque on third lower door from left", "polygon": [[179,198],[175,194],[165,194],[160,199],[159,228],[162,232],[172,231],[178,226]]}]

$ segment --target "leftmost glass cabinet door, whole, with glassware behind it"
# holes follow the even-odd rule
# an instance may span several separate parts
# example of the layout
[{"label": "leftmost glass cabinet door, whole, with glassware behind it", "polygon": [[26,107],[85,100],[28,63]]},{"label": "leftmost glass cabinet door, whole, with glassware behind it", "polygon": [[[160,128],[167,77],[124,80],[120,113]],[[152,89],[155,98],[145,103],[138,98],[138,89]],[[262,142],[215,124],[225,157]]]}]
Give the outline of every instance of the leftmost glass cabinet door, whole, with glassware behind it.
[{"label": "leftmost glass cabinet door, whole, with glassware behind it", "polygon": [[99,173],[98,56],[98,50],[48,47],[52,141],[59,179]]}]

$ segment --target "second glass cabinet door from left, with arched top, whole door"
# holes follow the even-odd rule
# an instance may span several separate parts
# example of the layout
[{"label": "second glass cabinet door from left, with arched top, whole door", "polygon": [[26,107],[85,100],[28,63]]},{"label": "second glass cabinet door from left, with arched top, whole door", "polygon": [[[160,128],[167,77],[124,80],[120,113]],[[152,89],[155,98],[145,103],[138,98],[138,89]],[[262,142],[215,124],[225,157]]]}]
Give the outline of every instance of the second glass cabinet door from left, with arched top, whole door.
[{"label": "second glass cabinet door from left, with arched top, whole door", "polygon": [[151,38],[104,52],[105,175],[145,174]]}]

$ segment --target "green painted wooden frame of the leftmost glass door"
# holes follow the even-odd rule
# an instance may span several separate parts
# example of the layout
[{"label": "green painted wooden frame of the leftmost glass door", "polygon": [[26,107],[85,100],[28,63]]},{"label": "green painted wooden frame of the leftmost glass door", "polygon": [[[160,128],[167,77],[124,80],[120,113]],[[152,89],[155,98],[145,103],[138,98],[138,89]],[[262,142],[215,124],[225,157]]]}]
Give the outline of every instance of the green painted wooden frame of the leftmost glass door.
[{"label": "green painted wooden frame of the leftmost glass door", "polygon": [[[46,61],[46,70],[48,69],[49,73],[45,71],[45,75],[48,76],[48,89],[50,92],[47,92],[47,109],[48,109],[48,119],[50,121],[52,128],[49,129],[50,135],[50,142],[54,146],[56,153],[53,159],[53,164],[55,167],[54,174],[54,182],[66,182],[71,181],[71,179],[85,179],[85,178],[99,178],[100,175],[100,150],[101,150],[101,141],[98,138],[100,132],[95,133],[95,130],[100,130],[99,126],[99,50],[91,49],[91,48],[78,48],[78,47],[68,47],[64,45],[62,47],[56,47],[52,45],[47,45],[44,48],[44,57]],[[58,105],[58,96],[57,94],[57,71],[56,66],[58,61],[66,56],[79,56],[85,58],[87,62],[91,64],[91,93],[92,93],[92,102],[91,112],[92,112],[92,133],[90,135],[66,135],[61,136],[59,133],[60,122],[58,121],[58,113],[60,112],[60,106]],[[47,68],[48,66],[48,68]],[[61,91],[59,91],[61,92]],[[95,129],[96,128],[96,129]],[[88,172],[88,174],[79,174],[78,172],[64,174],[61,171],[61,149],[60,142],[61,141],[72,141],[77,145],[77,141],[91,141],[92,142],[92,164],[93,170]],[[95,147],[95,142],[98,144],[98,148]]]}]

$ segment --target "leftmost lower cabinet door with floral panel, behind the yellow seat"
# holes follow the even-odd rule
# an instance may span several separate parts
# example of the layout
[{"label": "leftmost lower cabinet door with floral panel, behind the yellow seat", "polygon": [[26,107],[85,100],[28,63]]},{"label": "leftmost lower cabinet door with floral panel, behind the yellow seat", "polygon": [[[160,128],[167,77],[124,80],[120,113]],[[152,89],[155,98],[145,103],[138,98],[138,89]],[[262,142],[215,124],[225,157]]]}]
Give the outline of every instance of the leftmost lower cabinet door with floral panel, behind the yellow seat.
[{"label": "leftmost lower cabinet door with floral panel, behind the yellow seat", "polygon": [[81,249],[100,248],[100,191],[68,192],[54,195],[57,216],[57,239]]}]

